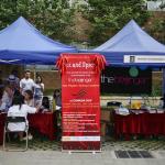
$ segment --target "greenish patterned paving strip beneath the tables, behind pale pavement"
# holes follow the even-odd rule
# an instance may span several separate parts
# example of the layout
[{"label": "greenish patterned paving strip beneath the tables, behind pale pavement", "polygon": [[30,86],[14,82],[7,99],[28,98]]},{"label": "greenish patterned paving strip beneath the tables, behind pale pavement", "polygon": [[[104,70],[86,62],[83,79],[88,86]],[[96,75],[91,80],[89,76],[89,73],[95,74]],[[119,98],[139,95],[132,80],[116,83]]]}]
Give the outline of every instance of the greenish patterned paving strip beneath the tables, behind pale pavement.
[{"label": "greenish patterned paving strip beneath the tables, behind pale pavement", "polygon": [[[22,146],[23,142],[13,143],[13,147]],[[140,139],[140,140],[114,140],[112,138],[106,138],[102,140],[102,151],[165,151],[165,136],[158,139]],[[0,146],[0,150],[1,146]],[[61,151],[59,141],[48,141],[47,138],[35,135],[32,141],[29,141],[29,150],[31,151]]]}]

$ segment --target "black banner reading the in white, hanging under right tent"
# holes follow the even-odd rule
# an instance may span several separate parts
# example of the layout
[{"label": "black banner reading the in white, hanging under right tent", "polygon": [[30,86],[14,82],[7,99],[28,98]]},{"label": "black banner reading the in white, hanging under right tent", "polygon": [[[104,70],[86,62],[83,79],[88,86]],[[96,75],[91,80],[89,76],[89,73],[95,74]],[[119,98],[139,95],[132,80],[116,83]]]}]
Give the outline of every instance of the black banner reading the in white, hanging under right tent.
[{"label": "black banner reading the in white, hanging under right tent", "polygon": [[142,95],[152,91],[152,69],[147,67],[106,67],[101,73],[101,94]]}]

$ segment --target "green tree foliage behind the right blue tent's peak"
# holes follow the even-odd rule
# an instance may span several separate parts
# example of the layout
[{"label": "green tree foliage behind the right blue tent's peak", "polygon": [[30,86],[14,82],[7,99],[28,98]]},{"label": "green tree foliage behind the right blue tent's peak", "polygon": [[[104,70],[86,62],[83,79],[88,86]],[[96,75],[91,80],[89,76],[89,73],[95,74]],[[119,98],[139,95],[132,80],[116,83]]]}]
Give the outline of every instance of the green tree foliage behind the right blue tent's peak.
[{"label": "green tree foliage behind the right blue tent's peak", "polygon": [[144,0],[88,0],[88,3],[82,13],[92,25],[91,45],[106,42],[131,19],[143,25],[150,15]]}]

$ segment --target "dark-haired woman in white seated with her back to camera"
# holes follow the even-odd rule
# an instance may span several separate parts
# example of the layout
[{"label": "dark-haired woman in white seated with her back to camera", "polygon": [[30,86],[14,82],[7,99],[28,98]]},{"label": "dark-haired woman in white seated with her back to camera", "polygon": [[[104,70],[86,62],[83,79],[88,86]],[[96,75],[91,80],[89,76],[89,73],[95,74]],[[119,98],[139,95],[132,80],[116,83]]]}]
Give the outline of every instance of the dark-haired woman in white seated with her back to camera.
[{"label": "dark-haired woman in white seated with her back to camera", "polygon": [[[9,108],[8,117],[24,117],[26,119],[28,113],[36,113],[40,108],[30,107],[24,103],[24,98],[21,95],[14,96],[12,101],[12,107]],[[26,119],[26,124],[29,124]],[[9,123],[8,129],[10,131],[23,131],[25,129],[25,123]],[[23,132],[19,133],[20,141],[23,139]],[[32,139],[30,136],[29,139]]]}]

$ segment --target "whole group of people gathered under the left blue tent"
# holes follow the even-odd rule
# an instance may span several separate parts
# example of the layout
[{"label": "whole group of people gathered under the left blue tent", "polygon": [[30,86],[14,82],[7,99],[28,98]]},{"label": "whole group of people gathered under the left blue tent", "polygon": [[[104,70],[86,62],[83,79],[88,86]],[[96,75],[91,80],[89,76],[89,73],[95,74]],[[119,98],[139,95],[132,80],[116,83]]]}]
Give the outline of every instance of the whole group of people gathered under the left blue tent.
[{"label": "whole group of people gathered under the left blue tent", "polygon": [[[44,97],[44,84],[40,75],[34,81],[31,78],[31,72],[25,70],[24,78],[20,80],[16,72],[12,72],[6,82],[0,79],[0,111],[7,112],[8,117],[19,116],[26,119],[28,113],[44,112],[51,109],[59,110],[61,107],[61,90],[58,89],[54,90],[53,106],[50,107],[48,97]],[[23,131],[24,127],[24,124],[9,124],[11,131]],[[22,133],[19,136],[23,139]]]}]

